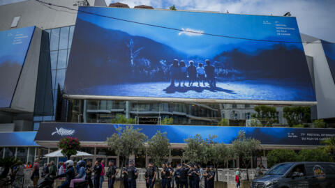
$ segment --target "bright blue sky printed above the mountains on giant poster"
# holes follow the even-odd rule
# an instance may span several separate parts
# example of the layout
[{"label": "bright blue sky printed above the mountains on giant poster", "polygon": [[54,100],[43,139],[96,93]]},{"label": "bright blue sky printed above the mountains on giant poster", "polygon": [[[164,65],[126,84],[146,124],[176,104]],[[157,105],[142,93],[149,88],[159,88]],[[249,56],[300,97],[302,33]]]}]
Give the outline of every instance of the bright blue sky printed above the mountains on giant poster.
[{"label": "bright blue sky printed above the mountains on giant poster", "polygon": [[[184,11],[172,12],[166,10],[123,8],[83,7],[82,10],[99,15],[167,26],[186,31],[197,31],[200,33],[212,33],[222,36],[236,36],[260,40],[300,41],[295,17],[195,13]],[[253,42],[250,40],[221,38],[184,31],[161,29],[153,26],[143,26],[85,13],[80,13],[78,17],[105,29],[116,29],[125,31],[132,36],[151,38],[152,40],[169,45],[174,49],[186,52],[191,56],[202,55],[212,58],[218,53],[234,49],[235,47],[253,53],[260,48],[269,48],[274,45],[273,42]],[[276,24],[290,28],[290,30],[287,30],[290,36],[278,36]],[[297,46],[302,49],[301,44],[297,44]]]}]

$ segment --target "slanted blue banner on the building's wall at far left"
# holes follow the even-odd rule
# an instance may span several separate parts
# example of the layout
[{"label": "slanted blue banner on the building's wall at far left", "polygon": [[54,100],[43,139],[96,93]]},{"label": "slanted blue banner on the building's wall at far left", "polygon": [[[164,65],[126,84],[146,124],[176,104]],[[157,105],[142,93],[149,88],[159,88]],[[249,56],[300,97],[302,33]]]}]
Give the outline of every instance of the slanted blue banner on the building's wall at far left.
[{"label": "slanted blue banner on the building's wall at far left", "polygon": [[34,29],[0,31],[0,108],[10,107]]}]

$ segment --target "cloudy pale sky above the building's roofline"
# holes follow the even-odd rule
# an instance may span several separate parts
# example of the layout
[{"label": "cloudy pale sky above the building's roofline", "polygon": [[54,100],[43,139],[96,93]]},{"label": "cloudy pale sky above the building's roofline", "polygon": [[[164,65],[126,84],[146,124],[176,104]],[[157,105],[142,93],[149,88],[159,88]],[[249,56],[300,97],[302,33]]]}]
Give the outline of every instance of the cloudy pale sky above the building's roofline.
[{"label": "cloudy pale sky above the building's roofline", "polygon": [[179,10],[207,10],[221,13],[284,15],[290,12],[297,17],[299,30],[310,36],[335,42],[334,0],[105,0],[109,3],[126,3],[133,8],[148,5],[154,8]]}]

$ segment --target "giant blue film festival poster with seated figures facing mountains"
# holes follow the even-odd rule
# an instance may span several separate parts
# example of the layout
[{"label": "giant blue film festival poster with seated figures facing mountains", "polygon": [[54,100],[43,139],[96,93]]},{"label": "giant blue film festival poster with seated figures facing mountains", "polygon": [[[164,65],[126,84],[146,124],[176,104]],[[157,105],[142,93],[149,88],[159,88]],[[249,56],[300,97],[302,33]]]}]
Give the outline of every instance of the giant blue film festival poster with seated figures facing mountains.
[{"label": "giant blue film festival poster with seated figures facing mountains", "polygon": [[68,95],[315,102],[295,17],[80,7]]}]

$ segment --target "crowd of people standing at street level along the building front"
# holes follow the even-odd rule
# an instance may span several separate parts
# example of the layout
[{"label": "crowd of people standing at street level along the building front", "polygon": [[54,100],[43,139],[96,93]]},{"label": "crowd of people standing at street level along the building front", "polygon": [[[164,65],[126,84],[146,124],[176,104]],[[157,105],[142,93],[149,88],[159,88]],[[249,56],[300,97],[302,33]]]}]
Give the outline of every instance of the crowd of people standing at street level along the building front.
[{"label": "crowd of people standing at street level along the building front", "polygon": [[[29,163],[26,166],[23,164],[17,166],[16,171],[19,173],[16,173],[16,175],[24,177],[24,169],[32,169],[31,180],[34,182],[34,187],[37,187],[38,179],[40,178],[38,159],[35,160],[34,165]],[[261,163],[256,169],[256,177],[262,175],[262,169],[264,167]],[[126,164],[126,167],[121,169],[120,173],[121,180],[124,181],[124,188],[136,188],[136,179],[139,172],[133,162]],[[73,162],[72,160],[68,160],[66,162],[59,162],[58,167],[53,161],[45,164],[41,172],[41,178],[52,178],[53,180],[65,178],[65,181],[59,188],[75,187],[75,183],[80,182],[87,183],[90,188],[102,188],[105,181],[104,177],[107,177],[108,188],[114,188],[114,182],[118,174],[119,171],[114,161],[108,162],[108,166],[105,168],[105,161],[100,159],[96,160],[94,166],[92,166],[91,161],[85,162],[84,160],[80,160],[79,162]],[[174,185],[177,188],[200,188],[200,185],[204,185],[204,188],[214,188],[215,175],[214,166],[205,166],[202,169],[200,164],[184,163],[177,164],[177,168],[174,169],[170,162],[167,162],[159,170],[152,162],[149,162],[144,173],[144,179],[147,188],[154,188],[159,176],[161,177],[162,188],[171,188]],[[237,169],[235,173],[237,187],[240,187],[240,180],[241,170]]]}]

